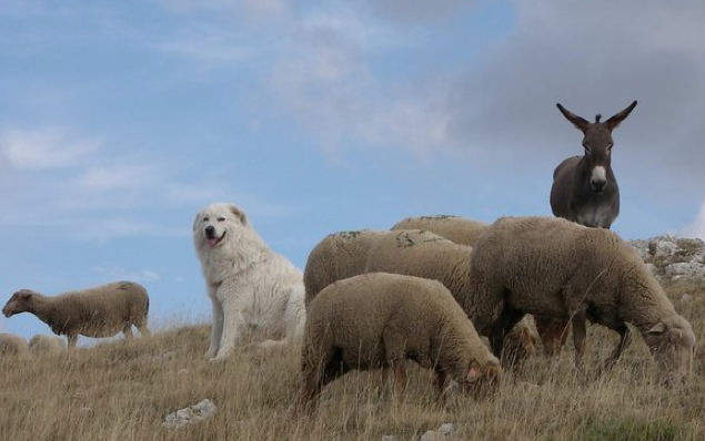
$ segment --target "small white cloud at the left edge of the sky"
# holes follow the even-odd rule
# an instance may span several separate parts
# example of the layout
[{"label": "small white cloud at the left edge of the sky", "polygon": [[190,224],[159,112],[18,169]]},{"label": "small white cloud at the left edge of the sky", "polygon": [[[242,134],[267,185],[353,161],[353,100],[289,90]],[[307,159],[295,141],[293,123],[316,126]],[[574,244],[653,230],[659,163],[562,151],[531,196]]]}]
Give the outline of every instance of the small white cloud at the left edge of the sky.
[{"label": "small white cloud at the left edge of the sky", "polygon": [[6,130],[0,133],[0,153],[20,170],[77,166],[101,145],[98,140],[75,139],[58,129]]}]

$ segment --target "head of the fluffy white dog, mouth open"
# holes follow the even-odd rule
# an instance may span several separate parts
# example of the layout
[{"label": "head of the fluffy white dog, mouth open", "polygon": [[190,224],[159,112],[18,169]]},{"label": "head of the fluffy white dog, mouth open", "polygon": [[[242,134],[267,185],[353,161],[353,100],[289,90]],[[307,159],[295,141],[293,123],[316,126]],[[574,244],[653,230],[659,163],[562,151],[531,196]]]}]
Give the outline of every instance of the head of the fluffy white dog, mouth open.
[{"label": "head of the fluffy white dog, mouth open", "polygon": [[216,248],[229,234],[249,225],[245,213],[234,204],[211,204],[199,212],[193,221],[193,242],[199,249],[202,246]]}]

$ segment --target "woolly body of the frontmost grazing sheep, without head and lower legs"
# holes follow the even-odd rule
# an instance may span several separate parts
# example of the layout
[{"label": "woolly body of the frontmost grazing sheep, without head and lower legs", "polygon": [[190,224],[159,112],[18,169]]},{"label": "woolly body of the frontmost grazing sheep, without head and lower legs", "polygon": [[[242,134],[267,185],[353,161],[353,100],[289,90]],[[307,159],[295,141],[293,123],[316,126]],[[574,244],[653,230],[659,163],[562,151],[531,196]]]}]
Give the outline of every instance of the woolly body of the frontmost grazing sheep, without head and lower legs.
[{"label": "woolly body of the frontmost grazing sheep, without head and lower legs", "polygon": [[328,348],[344,348],[345,362],[364,369],[384,360],[382,336],[393,322],[407,337],[407,350],[425,355],[447,316],[443,296],[446,305],[460,309],[434,280],[384,273],[339,280],[311,302],[304,345],[316,347],[323,341]]}]

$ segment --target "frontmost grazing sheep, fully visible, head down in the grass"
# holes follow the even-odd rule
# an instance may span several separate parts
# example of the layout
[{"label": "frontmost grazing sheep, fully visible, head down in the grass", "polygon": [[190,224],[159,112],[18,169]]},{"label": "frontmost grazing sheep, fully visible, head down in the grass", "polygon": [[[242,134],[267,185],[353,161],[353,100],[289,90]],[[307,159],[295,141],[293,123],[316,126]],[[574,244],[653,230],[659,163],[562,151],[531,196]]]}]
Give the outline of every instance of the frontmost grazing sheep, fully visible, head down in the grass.
[{"label": "frontmost grazing sheep, fully visible, head down in the grass", "polygon": [[326,383],[353,369],[391,368],[403,399],[405,359],[433,370],[441,402],[449,376],[476,398],[502,376],[500,360],[441,283],[385,273],[338,280],[309,308],[298,408],[309,409]]}]

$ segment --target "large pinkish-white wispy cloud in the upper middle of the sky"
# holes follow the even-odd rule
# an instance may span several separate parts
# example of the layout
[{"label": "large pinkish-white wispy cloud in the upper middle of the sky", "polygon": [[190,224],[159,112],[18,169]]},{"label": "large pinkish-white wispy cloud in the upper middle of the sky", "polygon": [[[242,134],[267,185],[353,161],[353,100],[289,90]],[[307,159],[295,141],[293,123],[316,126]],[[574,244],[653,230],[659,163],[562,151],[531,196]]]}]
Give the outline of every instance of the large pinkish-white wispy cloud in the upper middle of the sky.
[{"label": "large pinkish-white wispy cloud in the upper middle of the sky", "polygon": [[400,84],[375,75],[372,51],[382,50],[349,10],[303,19],[292,47],[271,76],[272,88],[292,115],[330,153],[344,143],[436,151],[445,142],[447,115],[436,106],[436,85]]}]

